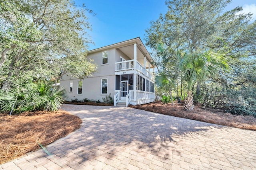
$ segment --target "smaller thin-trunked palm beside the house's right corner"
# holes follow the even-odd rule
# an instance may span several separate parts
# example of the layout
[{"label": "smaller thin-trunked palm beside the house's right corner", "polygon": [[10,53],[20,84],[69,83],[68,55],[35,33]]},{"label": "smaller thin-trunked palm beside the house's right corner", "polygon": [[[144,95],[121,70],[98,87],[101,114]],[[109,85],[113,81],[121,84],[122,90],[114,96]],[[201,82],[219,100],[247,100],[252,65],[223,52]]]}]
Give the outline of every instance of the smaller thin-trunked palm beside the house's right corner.
[{"label": "smaller thin-trunked palm beside the house's right corner", "polygon": [[[175,88],[175,81],[173,78],[171,78],[171,76],[166,75],[163,72],[160,72],[160,74],[158,74],[155,77],[155,84],[156,87],[163,87],[169,90],[169,94],[172,100],[172,88]],[[172,106],[173,106],[173,100],[172,100]]]}]

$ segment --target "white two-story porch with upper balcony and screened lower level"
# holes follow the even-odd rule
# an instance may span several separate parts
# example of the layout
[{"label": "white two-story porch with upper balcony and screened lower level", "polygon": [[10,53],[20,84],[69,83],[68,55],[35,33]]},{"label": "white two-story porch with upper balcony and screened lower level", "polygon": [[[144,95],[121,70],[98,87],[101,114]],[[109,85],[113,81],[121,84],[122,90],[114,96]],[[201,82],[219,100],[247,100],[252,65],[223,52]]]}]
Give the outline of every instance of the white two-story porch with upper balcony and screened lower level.
[{"label": "white two-story porch with upper balcony and screened lower level", "polygon": [[136,105],[154,101],[154,62],[143,44],[116,48],[124,54],[115,63],[115,95],[117,103]]}]

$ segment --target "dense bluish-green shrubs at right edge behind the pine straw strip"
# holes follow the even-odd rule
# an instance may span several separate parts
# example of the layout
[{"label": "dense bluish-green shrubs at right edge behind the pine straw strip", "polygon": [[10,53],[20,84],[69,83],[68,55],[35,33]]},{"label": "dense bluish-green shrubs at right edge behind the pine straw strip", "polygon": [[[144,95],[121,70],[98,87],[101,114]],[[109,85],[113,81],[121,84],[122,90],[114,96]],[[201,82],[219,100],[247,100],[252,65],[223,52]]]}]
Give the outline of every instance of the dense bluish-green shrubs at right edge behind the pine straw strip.
[{"label": "dense bluish-green shrubs at right edge behind the pine straw strip", "polygon": [[199,100],[205,107],[224,109],[233,114],[256,116],[256,61],[238,59],[227,74],[202,85]]}]

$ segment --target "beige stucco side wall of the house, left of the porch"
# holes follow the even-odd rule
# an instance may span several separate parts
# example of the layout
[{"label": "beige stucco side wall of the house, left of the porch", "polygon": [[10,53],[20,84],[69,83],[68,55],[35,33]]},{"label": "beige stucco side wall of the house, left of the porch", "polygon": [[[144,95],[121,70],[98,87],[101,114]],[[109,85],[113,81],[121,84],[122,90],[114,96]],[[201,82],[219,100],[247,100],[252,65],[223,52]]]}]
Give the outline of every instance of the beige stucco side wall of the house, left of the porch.
[{"label": "beige stucco side wall of the house, left of the porch", "polygon": [[[108,51],[108,64],[102,64],[102,52]],[[94,63],[97,64],[98,69],[96,72],[89,76],[88,78],[84,78],[82,80],[82,94],[78,94],[78,81],[77,78],[72,78],[69,76],[62,76],[60,80],[60,87],[65,88],[68,91],[68,100],[72,100],[77,98],[78,100],[82,100],[84,98],[100,100],[103,102],[102,98],[105,98],[107,95],[111,93],[111,96],[114,95],[115,88],[115,63],[117,60],[116,50],[108,49],[105,51],[99,51],[97,53],[92,53],[87,55],[87,59],[92,59]],[[118,57],[120,60],[120,56]],[[101,94],[101,79],[108,79],[108,87],[107,94]],[[70,81],[73,81],[73,92],[69,92]]]}]

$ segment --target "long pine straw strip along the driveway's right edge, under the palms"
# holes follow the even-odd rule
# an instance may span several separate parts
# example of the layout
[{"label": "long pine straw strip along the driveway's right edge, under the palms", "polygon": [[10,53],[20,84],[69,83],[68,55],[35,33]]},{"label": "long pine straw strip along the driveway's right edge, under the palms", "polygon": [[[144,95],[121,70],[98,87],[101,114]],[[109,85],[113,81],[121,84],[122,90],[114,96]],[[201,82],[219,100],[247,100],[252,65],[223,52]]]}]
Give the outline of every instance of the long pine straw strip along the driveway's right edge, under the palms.
[{"label": "long pine straw strip along the driveway's right edge, under the palms", "polygon": [[245,115],[232,115],[219,109],[209,109],[201,106],[195,106],[193,111],[185,111],[183,104],[178,104],[175,102],[174,106],[172,106],[172,104],[162,104],[161,101],[136,106],[129,105],[129,107],[161,113],[164,115],[171,115],[217,125],[256,131],[255,117]]}]

